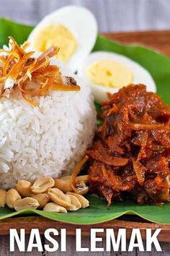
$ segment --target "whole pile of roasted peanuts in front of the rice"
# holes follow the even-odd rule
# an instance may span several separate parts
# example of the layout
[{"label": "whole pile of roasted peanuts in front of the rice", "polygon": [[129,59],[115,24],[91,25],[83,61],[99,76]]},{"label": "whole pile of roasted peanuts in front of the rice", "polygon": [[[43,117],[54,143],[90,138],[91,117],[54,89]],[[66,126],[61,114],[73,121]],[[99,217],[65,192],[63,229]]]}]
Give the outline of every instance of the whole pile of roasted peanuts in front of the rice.
[{"label": "whole pile of roasted peanuts in front of the rice", "polygon": [[41,177],[33,184],[19,180],[15,188],[0,189],[0,208],[7,205],[14,210],[42,209],[51,213],[67,213],[89,206],[83,196],[89,191],[88,175],[76,177],[76,193],[71,187],[71,176],[53,179]]}]

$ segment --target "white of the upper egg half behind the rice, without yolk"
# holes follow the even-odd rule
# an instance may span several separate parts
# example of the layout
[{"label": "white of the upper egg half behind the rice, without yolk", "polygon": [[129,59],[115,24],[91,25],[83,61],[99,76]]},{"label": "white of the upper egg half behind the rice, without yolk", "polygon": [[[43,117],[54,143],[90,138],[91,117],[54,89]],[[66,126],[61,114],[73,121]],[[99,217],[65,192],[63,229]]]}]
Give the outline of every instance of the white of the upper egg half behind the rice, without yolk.
[{"label": "white of the upper egg half behind the rice, without yolk", "polygon": [[79,67],[81,61],[91,52],[97,38],[97,20],[88,9],[75,5],[63,7],[48,14],[32,30],[28,40],[30,48],[33,46],[34,38],[43,27],[47,25],[63,25],[73,33],[78,42],[78,48],[68,60],[66,66],[73,72]]}]

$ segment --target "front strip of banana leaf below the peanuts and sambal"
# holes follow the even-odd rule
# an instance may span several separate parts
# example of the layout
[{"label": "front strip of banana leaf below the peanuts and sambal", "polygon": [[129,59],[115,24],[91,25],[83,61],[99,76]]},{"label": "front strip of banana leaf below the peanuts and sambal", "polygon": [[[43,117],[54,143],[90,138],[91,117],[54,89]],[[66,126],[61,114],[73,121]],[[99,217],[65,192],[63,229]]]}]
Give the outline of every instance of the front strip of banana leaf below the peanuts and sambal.
[{"label": "front strip of banana leaf below the peanuts and sambal", "polygon": [[138,206],[135,202],[126,200],[124,202],[115,202],[107,208],[107,202],[99,197],[87,195],[90,207],[69,213],[47,213],[42,210],[22,210],[15,212],[7,207],[0,208],[0,220],[17,215],[34,215],[35,213],[50,218],[54,221],[63,221],[75,224],[94,224],[110,221],[125,214],[138,215],[147,221],[154,223],[170,224],[169,211],[170,204],[162,206],[142,205]]}]

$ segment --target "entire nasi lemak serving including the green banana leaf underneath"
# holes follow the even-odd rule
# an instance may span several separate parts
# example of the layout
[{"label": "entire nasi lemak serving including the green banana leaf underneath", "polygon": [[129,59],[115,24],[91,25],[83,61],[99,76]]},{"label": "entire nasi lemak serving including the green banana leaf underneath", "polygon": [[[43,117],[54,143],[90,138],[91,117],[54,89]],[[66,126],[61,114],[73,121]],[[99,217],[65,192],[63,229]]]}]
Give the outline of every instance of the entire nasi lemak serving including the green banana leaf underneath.
[{"label": "entire nasi lemak serving including the green banana leaf underneath", "polygon": [[170,59],[97,34],[83,7],[0,20],[0,220],[170,224]]}]

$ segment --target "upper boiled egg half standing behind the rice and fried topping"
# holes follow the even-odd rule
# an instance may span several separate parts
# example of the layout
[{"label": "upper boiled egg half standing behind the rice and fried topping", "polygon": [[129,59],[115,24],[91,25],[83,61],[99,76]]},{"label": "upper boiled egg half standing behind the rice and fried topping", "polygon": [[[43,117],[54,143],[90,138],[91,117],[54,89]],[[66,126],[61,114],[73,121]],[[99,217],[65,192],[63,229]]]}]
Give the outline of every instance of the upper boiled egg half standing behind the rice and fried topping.
[{"label": "upper boiled egg half standing behind the rice and fried topping", "polygon": [[48,14],[30,33],[30,48],[45,51],[59,46],[57,59],[76,71],[94,47],[97,38],[97,21],[88,9],[67,6]]}]

